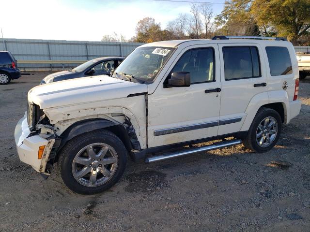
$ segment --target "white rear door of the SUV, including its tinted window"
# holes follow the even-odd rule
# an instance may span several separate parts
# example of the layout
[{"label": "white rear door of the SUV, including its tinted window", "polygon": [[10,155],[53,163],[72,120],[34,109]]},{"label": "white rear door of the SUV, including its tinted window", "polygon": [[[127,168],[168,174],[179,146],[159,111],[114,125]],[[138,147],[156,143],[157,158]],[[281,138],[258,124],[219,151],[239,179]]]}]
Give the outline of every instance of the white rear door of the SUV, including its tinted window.
[{"label": "white rear door of the SUV, including its tinted window", "polygon": [[267,93],[263,50],[256,43],[218,44],[221,60],[221,106],[218,135],[240,131],[250,100]]}]

